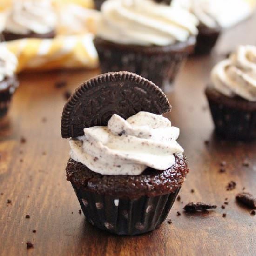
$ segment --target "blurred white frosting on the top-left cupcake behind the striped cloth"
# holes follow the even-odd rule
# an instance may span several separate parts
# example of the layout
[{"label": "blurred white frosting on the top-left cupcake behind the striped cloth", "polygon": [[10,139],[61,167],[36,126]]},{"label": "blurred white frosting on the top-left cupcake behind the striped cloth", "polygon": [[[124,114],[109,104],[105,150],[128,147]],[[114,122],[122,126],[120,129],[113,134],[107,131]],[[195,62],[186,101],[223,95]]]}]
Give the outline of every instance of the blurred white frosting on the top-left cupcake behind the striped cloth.
[{"label": "blurred white frosting on the top-left cupcake behind the striped cloth", "polygon": [[54,30],[56,16],[49,0],[15,1],[5,30],[13,34],[46,34]]}]

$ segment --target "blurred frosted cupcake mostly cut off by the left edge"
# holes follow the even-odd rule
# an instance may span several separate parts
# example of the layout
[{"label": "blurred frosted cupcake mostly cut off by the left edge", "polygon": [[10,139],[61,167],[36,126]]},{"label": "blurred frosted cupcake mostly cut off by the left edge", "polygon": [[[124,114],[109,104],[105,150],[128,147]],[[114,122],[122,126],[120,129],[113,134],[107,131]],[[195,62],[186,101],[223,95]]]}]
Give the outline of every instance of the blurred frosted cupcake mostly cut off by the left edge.
[{"label": "blurred frosted cupcake mostly cut off by the left edge", "polygon": [[18,81],[14,74],[18,61],[14,54],[0,45],[0,119],[8,111]]}]

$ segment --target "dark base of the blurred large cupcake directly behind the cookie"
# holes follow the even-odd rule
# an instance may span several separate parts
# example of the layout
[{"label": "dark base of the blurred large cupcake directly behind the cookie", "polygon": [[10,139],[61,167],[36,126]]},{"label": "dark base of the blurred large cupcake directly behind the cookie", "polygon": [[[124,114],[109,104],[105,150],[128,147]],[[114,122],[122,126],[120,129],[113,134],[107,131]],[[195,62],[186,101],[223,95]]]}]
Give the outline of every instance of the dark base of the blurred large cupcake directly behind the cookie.
[{"label": "dark base of the blurred large cupcake directly behind the cookie", "polygon": [[193,53],[195,37],[170,46],[121,45],[96,38],[102,73],[130,71],[147,78],[163,91],[173,89],[178,71]]}]

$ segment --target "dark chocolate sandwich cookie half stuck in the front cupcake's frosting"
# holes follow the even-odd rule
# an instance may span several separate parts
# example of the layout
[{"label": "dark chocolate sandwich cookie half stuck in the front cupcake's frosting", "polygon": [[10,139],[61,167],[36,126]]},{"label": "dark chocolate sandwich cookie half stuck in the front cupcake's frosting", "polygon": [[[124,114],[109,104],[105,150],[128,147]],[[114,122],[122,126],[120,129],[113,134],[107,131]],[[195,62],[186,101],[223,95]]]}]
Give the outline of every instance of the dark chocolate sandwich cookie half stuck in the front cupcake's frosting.
[{"label": "dark chocolate sandwich cookie half stuck in the front cupcake's frosting", "polygon": [[154,83],[126,71],[96,76],[78,87],[64,106],[63,138],[83,135],[83,129],[106,126],[113,114],[124,119],[140,111],[163,114],[171,110],[165,94]]}]

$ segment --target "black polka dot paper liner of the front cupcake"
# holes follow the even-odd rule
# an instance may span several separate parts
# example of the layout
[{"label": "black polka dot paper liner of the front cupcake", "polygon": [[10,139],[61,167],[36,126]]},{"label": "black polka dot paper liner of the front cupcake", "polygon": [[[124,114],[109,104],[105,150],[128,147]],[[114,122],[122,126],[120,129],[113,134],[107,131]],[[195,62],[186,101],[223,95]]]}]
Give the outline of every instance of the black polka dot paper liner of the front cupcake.
[{"label": "black polka dot paper liner of the front cupcake", "polygon": [[114,198],[73,188],[88,222],[117,235],[140,235],[158,228],[168,216],[180,188],[173,193],[138,199]]}]

